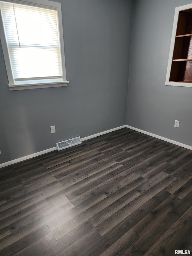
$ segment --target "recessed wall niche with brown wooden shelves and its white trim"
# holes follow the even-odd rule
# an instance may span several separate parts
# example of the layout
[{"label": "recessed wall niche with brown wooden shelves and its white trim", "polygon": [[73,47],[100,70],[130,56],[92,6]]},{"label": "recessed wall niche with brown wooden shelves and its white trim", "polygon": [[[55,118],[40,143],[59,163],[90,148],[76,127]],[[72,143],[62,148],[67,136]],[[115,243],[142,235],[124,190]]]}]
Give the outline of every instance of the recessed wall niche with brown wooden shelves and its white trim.
[{"label": "recessed wall niche with brown wooden shelves and its white trim", "polygon": [[176,7],[165,84],[192,87],[192,4]]}]

